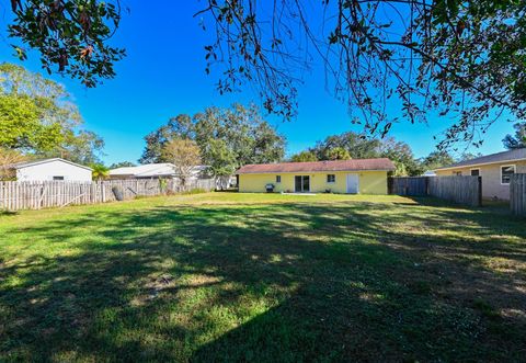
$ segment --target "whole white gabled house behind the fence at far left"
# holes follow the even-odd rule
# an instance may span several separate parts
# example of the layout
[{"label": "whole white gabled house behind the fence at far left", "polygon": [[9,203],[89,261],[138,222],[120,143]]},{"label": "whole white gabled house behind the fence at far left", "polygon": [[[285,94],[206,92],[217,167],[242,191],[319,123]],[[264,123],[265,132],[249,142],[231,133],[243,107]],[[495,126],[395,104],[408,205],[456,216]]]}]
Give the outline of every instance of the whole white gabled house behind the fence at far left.
[{"label": "whole white gabled house behind the fence at far left", "polygon": [[77,181],[91,182],[91,168],[60,158],[13,163],[18,181]]}]

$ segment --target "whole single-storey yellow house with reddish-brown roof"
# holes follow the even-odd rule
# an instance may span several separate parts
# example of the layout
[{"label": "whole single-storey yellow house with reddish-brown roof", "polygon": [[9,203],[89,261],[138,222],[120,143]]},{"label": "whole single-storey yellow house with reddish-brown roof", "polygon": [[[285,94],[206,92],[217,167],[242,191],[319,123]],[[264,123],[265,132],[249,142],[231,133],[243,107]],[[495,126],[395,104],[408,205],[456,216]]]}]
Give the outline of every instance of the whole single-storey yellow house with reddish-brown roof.
[{"label": "whole single-storey yellow house with reddish-brown roof", "polygon": [[387,194],[392,170],[379,158],[248,165],[237,174],[240,192]]}]

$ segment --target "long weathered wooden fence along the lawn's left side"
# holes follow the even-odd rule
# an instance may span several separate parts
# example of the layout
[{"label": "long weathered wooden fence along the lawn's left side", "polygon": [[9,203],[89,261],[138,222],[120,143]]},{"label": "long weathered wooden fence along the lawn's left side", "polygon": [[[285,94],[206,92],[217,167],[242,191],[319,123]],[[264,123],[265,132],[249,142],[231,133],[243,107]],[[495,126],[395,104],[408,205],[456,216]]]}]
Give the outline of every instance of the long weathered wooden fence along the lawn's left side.
[{"label": "long weathered wooden fence along the lawn's left side", "polygon": [[181,193],[195,189],[206,191],[216,186],[214,179],[198,179],[182,185],[176,179],[129,179],[100,182],[0,182],[0,211],[41,209],[67,205],[96,204],[136,196]]}]

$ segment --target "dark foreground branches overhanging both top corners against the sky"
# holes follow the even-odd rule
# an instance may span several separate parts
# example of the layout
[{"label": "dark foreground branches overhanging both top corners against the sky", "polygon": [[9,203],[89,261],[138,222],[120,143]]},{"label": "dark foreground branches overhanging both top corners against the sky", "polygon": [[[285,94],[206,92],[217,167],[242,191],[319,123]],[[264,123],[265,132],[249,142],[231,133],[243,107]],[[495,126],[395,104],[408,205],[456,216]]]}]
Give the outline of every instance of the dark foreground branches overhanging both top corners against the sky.
[{"label": "dark foreground branches overhanging both top corners against the sky", "polygon": [[[114,77],[124,56],[110,45],[118,0],[11,4],[10,36],[37,49],[45,69],[89,87]],[[306,70],[319,64],[334,97],[371,134],[386,135],[396,122],[454,120],[439,146],[479,145],[503,115],[526,116],[523,1],[207,0],[195,15],[213,35],[205,70],[220,75],[219,92],[250,83],[285,118],[296,114]],[[25,59],[25,48],[13,46]]]}]

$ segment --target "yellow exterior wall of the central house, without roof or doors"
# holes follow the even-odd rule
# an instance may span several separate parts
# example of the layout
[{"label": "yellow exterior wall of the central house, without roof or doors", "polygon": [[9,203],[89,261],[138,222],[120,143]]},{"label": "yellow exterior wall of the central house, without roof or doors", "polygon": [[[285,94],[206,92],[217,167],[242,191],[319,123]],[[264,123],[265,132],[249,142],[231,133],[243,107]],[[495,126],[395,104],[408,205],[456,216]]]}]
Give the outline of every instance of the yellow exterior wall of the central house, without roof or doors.
[{"label": "yellow exterior wall of the central house, without roof or doors", "polygon": [[[265,185],[274,184],[274,191],[294,192],[294,177],[309,175],[310,192],[323,193],[331,190],[332,193],[344,194],[347,190],[347,173],[357,173],[358,189],[361,194],[387,194],[387,171],[362,171],[362,172],[332,172],[336,180],[334,183],[327,182],[327,174],[331,172],[309,172],[309,173],[275,173],[275,174],[240,174],[239,191],[243,193],[261,193],[265,192]],[[276,183],[276,175],[282,177],[282,182]]]}]

